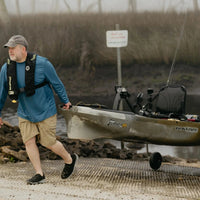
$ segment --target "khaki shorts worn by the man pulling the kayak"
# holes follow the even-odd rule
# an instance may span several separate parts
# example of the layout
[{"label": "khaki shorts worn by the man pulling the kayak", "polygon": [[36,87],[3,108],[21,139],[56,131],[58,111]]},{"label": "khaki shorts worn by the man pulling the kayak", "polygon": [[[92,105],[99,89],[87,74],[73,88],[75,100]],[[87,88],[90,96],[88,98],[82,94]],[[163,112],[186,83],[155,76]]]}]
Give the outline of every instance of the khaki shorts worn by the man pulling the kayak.
[{"label": "khaki shorts worn by the man pulling the kayak", "polygon": [[56,122],[56,114],[37,123],[19,117],[19,128],[23,142],[26,143],[37,136],[41,145],[45,147],[54,145],[56,143]]}]

